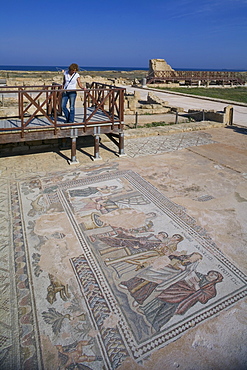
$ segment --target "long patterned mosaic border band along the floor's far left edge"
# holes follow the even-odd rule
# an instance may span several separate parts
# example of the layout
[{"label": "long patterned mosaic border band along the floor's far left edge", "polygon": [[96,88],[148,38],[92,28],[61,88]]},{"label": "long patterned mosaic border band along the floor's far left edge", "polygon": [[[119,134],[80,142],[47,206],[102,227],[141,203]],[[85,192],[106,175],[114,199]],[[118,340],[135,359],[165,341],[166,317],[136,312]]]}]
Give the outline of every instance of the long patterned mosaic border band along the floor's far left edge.
[{"label": "long patterned mosaic border band along the floor's far left edge", "polygon": [[[8,185],[8,184],[6,184]],[[26,253],[25,229],[22,224],[22,209],[18,191],[18,183],[11,182],[8,186],[10,203],[4,210],[5,219],[9,214],[10,220],[1,235],[7,239],[2,245],[8,247],[8,268],[4,269],[8,275],[9,306],[6,308],[6,327],[9,327],[7,343],[1,343],[0,364],[1,369],[30,368],[39,369],[41,366],[40,344],[36,310],[34,306],[32,282],[28,254]],[[9,227],[9,224],[11,225]],[[13,247],[12,247],[13,246]],[[2,297],[3,295],[2,295]],[[6,301],[6,300],[5,300]],[[2,301],[2,304],[4,301]],[[7,345],[7,347],[6,347]]]}]

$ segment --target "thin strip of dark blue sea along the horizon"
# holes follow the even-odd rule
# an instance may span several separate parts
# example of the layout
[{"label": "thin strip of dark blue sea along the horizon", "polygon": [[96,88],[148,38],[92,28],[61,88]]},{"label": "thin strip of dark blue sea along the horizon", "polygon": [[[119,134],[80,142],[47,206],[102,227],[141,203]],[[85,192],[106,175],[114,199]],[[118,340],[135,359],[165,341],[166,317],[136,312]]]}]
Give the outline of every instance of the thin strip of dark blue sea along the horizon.
[{"label": "thin strip of dark blue sea along the horizon", "polygon": [[[1,71],[37,71],[37,72],[59,72],[66,70],[68,66],[24,66],[24,65],[0,65]],[[143,67],[79,67],[80,71],[148,71]],[[175,71],[233,71],[245,72],[246,69],[215,69],[215,68],[176,68]]]}]

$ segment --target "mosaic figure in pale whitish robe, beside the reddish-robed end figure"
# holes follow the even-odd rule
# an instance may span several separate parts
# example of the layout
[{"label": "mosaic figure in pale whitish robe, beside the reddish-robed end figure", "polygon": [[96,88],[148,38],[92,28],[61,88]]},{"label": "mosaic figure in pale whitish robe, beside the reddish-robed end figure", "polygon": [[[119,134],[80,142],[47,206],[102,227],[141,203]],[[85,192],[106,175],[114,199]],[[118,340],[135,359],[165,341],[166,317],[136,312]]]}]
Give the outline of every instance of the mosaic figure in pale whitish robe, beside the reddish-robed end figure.
[{"label": "mosaic figure in pale whitish robe, beside the reddish-robed end figure", "polygon": [[128,290],[134,298],[134,306],[142,305],[153,291],[164,290],[190,276],[201,260],[200,253],[158,256],[150,261],[149,266],[139,270],[133,278],[122,281],[119,286]]}]

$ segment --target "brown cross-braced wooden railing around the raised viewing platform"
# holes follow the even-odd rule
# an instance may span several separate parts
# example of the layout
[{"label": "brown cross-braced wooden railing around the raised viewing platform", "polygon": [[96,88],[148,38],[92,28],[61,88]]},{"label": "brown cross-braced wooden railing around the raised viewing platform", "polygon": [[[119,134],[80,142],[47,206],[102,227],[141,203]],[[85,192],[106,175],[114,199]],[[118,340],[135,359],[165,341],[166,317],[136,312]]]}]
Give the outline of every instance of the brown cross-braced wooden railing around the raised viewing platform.
[{"label": "brown cross-braced wooden railing around the raised viewing platform", "polygon": [[58,119],[62,115],[61,99],[63,91],[62,86],[58,84],[1,87],[0,97],[2,97],[2,105],[4,105],[4,99],[6,101],[12,99],[16,101],[15,104],[18,104],[18,111],[16,115],[0,117],[0,131],[6,131],[6,128],[1,126],[1,120],[18,118],[20,119],[20,125],[13,125],[10,131],[19,130],[23,136],[27,129],[28,131],[34,129],[32,122],[36,117],[40,116],[46,119],[45,129],[48,127],[53,128],[55,134],[58,128],[68,126],[84,125],[86,130],[88,126],[95,125],[93,118],[99,112],[101,113],[100,124],[109,124],[112,128],[115,124],[123,124],[124,88],[94,82],[83,91],[76,90],[82,100],[84,115],[80,122],[73,123],[65,123],[61,118]]}]

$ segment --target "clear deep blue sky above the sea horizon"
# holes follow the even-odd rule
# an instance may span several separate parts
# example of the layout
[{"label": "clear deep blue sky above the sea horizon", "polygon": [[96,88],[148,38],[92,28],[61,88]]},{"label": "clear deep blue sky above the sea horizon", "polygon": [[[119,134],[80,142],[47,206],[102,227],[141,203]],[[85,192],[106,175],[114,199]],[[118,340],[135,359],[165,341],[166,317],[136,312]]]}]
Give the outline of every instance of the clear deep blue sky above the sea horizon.
[{"label": "clear deep blue sky above the sea horizon", "polygon": [[247,0],[7,0],[0,65],[247,70]]}]

